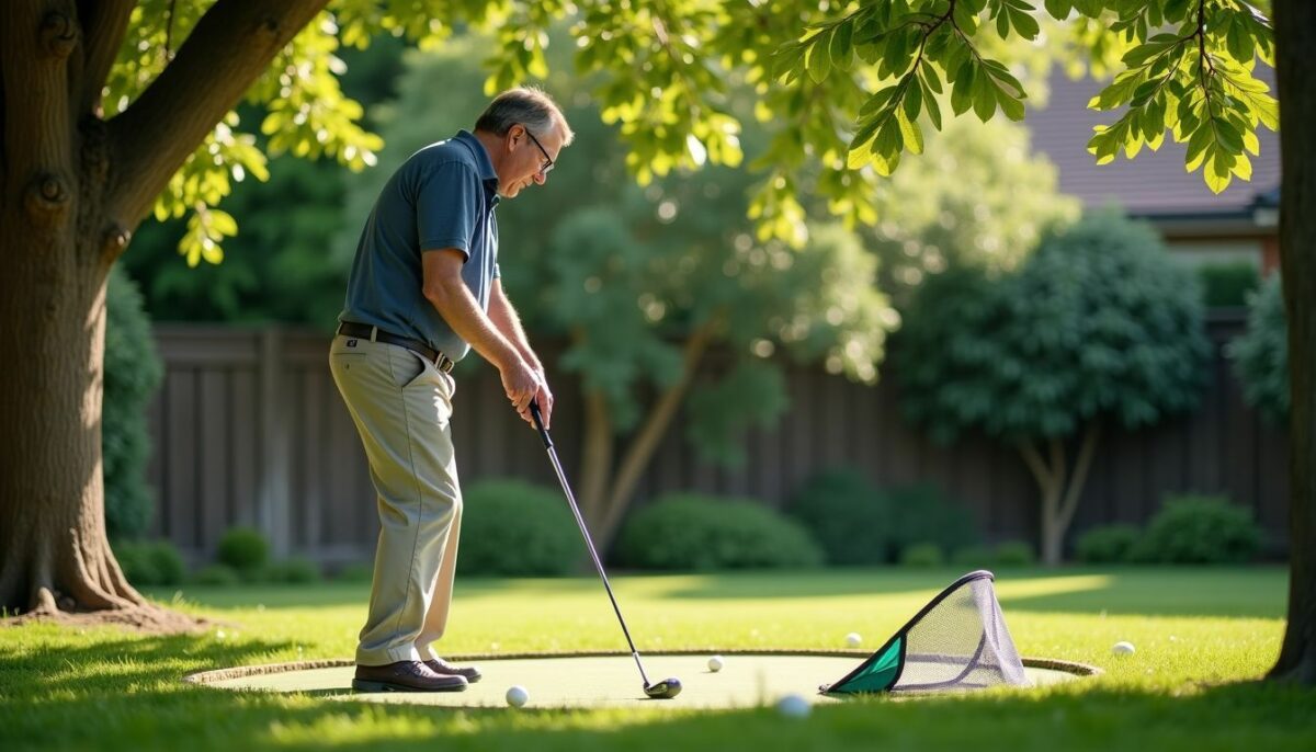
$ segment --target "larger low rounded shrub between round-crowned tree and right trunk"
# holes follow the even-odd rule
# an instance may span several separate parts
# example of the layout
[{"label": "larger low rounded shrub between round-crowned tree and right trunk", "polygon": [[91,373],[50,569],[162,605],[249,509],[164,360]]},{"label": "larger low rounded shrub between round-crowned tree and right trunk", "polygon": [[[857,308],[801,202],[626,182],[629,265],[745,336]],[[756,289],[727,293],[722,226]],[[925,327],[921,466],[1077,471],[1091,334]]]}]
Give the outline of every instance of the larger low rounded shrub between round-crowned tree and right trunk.
[{"label": "larger low rounded shrub between round-crowned tree and right trunk", "polygon": [[1165,564],[1240,564],[1261,548],[1252,511],[1220,497],[1166,500],[1134,547],[1138,561]]}]

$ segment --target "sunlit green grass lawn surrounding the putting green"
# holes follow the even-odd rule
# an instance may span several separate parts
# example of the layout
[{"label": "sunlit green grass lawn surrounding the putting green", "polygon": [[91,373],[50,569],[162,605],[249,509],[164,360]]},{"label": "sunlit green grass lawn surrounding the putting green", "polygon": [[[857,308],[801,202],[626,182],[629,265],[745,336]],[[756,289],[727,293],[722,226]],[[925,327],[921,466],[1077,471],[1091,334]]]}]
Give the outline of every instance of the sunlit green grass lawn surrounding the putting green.
[{"label": "sunlit green grass lawn surrounding the putting green", "polygon": [[[641,652],[876,648],[958,571],[617,576]],[[998,572],[1020,652],[1094,664],[1048,690],[771,707],[441,710],[186,686],[212,668],[349,657],[366,585],[153,592],[208,634],[0,628],[0,749],[1316,749],[1316,692],[1257,684],[1283,635],[1287,572]],[[1111,655],[1117,640],[1137,647]],[[459,580],[450,653],[624,649],[595,577]],[[825,680],[828,677],[820,677]],[[638,677],[636,680],[638,685]]]}]

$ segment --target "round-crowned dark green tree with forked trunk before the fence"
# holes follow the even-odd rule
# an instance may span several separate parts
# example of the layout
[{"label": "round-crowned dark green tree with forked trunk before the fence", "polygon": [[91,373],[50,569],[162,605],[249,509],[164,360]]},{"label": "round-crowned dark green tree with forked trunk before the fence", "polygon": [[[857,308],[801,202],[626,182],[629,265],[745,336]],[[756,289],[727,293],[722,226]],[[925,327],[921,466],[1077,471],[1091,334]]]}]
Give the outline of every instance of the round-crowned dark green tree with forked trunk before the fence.
[{"label": "round-crowned dark green tree with forked trunk before the fence", "polygon": [[1202,291],[1152,227],[1105,210],[1045,239],[1015,273],[929,279],[894,351],[905,415],[949,442],[1019,450],[1041,496],[1041,551],[1065,532],[1103,425],[1196,406],[1211,354]]}]

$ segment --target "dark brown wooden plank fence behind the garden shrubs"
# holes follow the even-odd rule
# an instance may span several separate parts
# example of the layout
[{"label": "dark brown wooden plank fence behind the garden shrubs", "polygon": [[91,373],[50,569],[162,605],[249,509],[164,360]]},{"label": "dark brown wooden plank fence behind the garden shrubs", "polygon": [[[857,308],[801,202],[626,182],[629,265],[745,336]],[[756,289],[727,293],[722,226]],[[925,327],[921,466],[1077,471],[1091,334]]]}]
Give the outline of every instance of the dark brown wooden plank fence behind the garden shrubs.
[{"label": "dark brown wooden plank fence behind the garden shrubs", "polygon": [[[1284,550],[1286,439],[1244,404],[1220,351],[1242,326],[1237,313],[1211,319],[1216,355],[1195,414],[1153,430],[1103,434],[1071,532],[1144,522],[1167,493],[1220,493],[1252,507],[1271,550]],[[200,559],[229,527],[254,525],[278,556],[368,559],[378,531],[374,492],[329,376],[328,338],[183,325],[159,325],[155,335],[166,377],[150,411],[154,534]],[[746,438],[747,461],[740,468],[699,461],[678,419],[636,502],[695,489],[779,505],[809,473],[849,464],[880,485],[940,485],[988,539],[1037,540],[1037,490],[1012,450],[982,438],[950,448],[932,444],[901,419],[891,379],[869,388],[790,367],[788,388],[790,410],[774,429]],[[578,384],[559,373],[554,392],[554,438],[572,476]],[[555,485],[536,435],[507,409],[492,368],[459,376],[453,433],[463,484],[511,476]]]}]

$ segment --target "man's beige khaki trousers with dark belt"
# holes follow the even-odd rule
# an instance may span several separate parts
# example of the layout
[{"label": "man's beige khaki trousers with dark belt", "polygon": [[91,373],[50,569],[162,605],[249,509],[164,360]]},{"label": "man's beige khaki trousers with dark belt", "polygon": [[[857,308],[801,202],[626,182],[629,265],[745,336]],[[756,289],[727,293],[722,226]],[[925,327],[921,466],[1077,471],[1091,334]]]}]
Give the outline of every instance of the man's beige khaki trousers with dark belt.
[{"label": "man's beige khaki trousers with dark belt", "polygon": [[399,347],[338,335],[329,369],[378,493],[379,544],[357,663],[436,656],[453,601],[462,493],[449,418],[455,383]]}]

